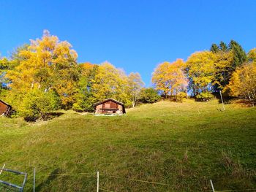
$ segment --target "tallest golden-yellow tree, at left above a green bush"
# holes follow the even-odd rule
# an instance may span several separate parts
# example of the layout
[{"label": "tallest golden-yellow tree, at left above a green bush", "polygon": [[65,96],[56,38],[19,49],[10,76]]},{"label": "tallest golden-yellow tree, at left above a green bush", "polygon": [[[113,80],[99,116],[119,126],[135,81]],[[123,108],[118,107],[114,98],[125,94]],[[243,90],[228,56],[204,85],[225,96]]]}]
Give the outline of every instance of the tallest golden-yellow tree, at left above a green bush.
[{"label": "tallest golden-yellow tree, at left above a green bush", "polygon": [[26,94],[38,89],[45,93],[53,91],[61,99],[61,107],[72,107],[78,92],[79,71],[78,55],[71,47],[69,42],[61,42],[45,30],[42,39],[31,40],[29,46],[12,54],[18,65],[7,71],[12,82],[11,103],[18,108]]}]

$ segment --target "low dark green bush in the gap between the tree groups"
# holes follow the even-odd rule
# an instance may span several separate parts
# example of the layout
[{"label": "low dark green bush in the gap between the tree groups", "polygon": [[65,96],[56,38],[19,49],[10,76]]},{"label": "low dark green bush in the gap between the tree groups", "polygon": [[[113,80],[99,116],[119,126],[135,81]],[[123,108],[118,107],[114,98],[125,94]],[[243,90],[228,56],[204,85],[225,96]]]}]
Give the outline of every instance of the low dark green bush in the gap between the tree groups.
[{"label": "low dark green bush in the gap between the tree groups", "polygon": [[143,103],[154,103],[161,99],[154,88],[143,88],[140,93],[140,101]]}]

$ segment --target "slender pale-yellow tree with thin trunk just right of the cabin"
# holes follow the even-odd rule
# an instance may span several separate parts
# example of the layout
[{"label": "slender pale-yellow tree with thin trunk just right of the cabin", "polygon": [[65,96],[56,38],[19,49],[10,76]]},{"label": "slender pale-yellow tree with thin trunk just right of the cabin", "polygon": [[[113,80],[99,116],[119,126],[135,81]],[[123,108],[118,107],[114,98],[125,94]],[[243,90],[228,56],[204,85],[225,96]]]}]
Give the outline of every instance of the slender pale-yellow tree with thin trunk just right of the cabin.
[{"label": "slender pale-yellow tree with thin trunk just right of the cabin", "polygon": [[144,82],[139,73],[130,73],[128,76],[128,94],[132,99],[132,107],[135,107],[138,99],[140,99],[140,91],[143,88]]}]

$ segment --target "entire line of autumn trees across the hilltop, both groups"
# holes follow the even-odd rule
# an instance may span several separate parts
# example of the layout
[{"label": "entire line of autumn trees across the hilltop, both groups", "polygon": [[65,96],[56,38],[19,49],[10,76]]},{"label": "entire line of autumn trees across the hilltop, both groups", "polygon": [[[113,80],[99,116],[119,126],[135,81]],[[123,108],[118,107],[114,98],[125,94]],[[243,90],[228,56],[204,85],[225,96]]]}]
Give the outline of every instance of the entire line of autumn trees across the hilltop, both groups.
[{"label": "entire line of autumn trees across the hilltop, both groups", "polygon": [[256,99],[256,49],[248,54],[238,42],[220,42],[195,52],[187,61],[159,64],[152,74],[154,88],[144,88],[138,72],[126,74],[108,62],[78,64],[78,53],[49,31],[10,58],[0,58],[0,97],[16,115],[37,119],[54,110],[93,111],[106,98],[135,107],[162,98],[195,96],[208,100],[222,91],[249,101]]}]

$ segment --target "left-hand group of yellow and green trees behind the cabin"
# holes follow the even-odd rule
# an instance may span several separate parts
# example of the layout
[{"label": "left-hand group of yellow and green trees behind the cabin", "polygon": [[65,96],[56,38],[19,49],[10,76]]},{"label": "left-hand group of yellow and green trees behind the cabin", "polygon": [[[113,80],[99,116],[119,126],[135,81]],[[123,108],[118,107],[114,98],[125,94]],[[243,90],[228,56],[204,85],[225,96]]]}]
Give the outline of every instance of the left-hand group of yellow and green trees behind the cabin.
[{"label": "left-hand group of yellow and green trees behind the cabin", "polygon": [[1,58],[1,99],[29,119],[59,109],[91,112],[95,102],[106,98],[127,107],[159,99],[153,88],[143,88],[139,73],[127,75],[108,62],[78,64],[77,58],[69,42],[44,31],[41,39]]}]

